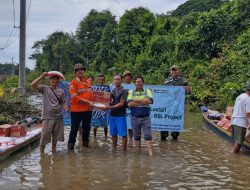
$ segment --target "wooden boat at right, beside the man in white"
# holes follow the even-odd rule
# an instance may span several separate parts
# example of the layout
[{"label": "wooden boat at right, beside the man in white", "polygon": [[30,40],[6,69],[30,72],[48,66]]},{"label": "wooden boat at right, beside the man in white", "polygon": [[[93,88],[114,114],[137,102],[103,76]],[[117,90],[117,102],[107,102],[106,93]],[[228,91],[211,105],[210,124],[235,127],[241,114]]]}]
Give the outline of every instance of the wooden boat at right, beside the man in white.
[{"label": "wooden boat at right, beside the man in white", "polygon": [[[207,112],[202,112],[202,116],[204,121],[206,122],[207,126],[216,134],[222,136],[223,138],[229,140],[230,142],[234,143],[232,137],[231,137],[231,132],[222,128],[221,126],[217,125],[218,120],[212,120],[208,118],[208,113]],[[245,150],[250,151],[250,143],[249,142],[244,142],[242,145],[242,148]]]}]

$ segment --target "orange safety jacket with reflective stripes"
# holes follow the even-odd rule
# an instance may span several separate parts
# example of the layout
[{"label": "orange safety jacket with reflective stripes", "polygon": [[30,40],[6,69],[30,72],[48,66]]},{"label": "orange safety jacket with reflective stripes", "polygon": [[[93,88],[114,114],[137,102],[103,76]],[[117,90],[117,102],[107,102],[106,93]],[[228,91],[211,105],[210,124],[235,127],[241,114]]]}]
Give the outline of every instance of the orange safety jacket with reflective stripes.
[{"label": "orange safety jacket with reflective stripes", "polygon": [[71,112],[92,110],[88,103],[80,102],[80,99],[85,99],[91,102],[93,100],[92,85],[89,80],[86,80],[86,78],[80,80],[78,77],[73,79],[70,82],[69,94]]}]

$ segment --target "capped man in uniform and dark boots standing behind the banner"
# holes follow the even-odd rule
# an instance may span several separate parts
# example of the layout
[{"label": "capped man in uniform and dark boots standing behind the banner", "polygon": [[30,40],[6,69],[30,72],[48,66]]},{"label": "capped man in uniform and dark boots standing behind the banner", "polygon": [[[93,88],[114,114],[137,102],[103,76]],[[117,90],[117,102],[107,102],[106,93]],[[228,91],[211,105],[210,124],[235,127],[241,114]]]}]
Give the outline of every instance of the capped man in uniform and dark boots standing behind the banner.
[{"label": "capped man in uniform and dark boots standing behind the banner", "polygon": [[[180,69],[177,65],[170,67],[170,76],[165,80],[164,84],[168,86],[183,86],[185,88],[186,94],[191,93],[191,89],[188,86],[187,80],[181,76]],[[177,131],[171,132],[173,140],[178,140],[179,135],[180,133]],[[161,131],[161,140],[166,140],[167,137],[168,131]]]}]

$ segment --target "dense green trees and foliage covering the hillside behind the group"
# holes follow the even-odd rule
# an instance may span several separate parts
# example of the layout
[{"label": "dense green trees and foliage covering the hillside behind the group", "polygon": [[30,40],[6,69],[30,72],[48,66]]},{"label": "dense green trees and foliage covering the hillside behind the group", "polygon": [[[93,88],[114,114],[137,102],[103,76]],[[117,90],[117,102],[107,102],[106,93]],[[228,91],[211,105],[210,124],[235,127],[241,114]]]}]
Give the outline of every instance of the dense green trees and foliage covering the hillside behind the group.
[{"label": "dense green trees and foliage covering the hillside behind the group", "polygon": [[250,0],[189,0],[172,15],[139,7],[119,21],[109,11],[91,10],[75,34],[56,31],[35,42],[30,58],[38,73],[56,69],[72,76],[73,65],[81,62],[89,74],[110,78],[130,70],[150,84],[162,84],[177,64],[194,105],[223,108],[250,80],[249,12]]}]

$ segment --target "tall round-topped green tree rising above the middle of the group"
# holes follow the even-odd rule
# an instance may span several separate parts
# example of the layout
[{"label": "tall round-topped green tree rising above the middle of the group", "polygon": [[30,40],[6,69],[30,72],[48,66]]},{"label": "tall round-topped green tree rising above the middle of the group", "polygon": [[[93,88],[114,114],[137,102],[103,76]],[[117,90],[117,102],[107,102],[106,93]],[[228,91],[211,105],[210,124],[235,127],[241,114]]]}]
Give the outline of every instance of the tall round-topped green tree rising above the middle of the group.
[{"label": "tall round-topped green tree rising above the middle of the group", "polygon": [[134,8],[120,18],[117,28],[119,70],[131,68],[136,56],[143,52],[146,42],[153,34],[155,17],[146,8]]}]

